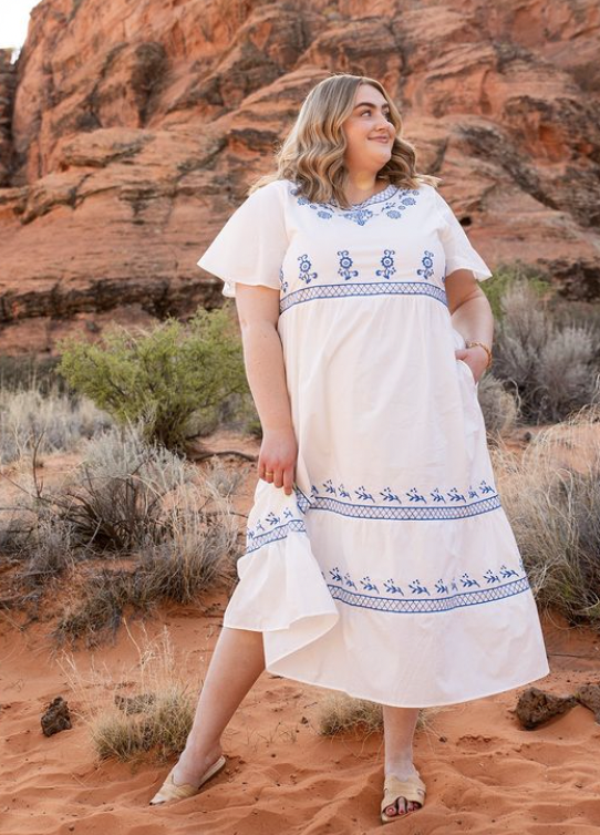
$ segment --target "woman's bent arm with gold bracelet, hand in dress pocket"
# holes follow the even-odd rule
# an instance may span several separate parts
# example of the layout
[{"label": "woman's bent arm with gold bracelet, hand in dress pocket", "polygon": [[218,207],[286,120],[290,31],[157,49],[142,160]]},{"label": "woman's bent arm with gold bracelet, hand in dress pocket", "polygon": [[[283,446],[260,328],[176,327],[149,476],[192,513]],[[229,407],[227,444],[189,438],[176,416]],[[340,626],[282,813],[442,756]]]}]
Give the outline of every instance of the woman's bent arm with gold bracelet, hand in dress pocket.
[{"label": "woman's bent arm with gold bracelet, hand in dress pocket", "polygon": [[[457,269],[446,277],[446,296],[453,327],[465,339],[485,342],[492,348],[494,338],[494,315],[489,302],[468,269]],[[478,382],[487,365],[487,353],[479,346],[462,348],[456,357],[464,360]]]}]

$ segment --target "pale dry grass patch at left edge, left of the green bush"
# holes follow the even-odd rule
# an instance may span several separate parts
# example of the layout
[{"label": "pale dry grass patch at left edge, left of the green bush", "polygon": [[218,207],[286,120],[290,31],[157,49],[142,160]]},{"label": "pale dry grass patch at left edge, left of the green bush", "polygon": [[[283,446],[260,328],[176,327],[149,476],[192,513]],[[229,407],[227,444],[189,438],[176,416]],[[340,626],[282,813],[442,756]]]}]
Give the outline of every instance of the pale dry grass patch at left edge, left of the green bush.
[{"label": "pale dry grass patch at left edge, left of the green bush", "polygon": [[72,398],[58,390],[0,390],[0,463],[7,464],[31,452],[74,450],[112,423],[86,398]]}]

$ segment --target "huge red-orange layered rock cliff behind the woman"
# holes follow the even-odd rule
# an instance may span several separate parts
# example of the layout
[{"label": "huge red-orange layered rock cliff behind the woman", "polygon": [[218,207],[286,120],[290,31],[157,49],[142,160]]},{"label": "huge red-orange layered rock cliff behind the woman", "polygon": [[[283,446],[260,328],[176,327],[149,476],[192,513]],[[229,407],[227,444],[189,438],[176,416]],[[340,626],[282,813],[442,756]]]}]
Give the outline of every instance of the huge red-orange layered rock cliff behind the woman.
[{"label": "huge red-orange layered rock cliff behind the woman", "polygon": [[0,348],[221,303],[196,260],[330,72],[386,84],[492,267],[598,298],[599,22],[594,0],[42,0],[13,106],[0,62]]}]

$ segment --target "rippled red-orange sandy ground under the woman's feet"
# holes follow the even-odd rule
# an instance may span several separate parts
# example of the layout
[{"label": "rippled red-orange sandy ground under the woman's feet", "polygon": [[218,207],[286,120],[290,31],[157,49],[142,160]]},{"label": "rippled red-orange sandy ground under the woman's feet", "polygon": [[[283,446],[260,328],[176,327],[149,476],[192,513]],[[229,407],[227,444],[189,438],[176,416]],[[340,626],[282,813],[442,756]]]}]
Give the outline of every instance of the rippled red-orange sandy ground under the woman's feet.
[{"label": "rippled red-orange sandy ground under the woman's feet", "polygon": [[[239,442],[239,443],[238,443]],[[216,439],[217,449],[258,451],[258,442]],[[68,458],[71,463],[71,458]],[[46,477],[65,460],[45,462]],[[250,470],[251,470],[250,464]],[[254,474],[240,491],[249,507]],[[114,646],[74,652],[85,676],[92,666],[132,669],[134,641],[166,626],[185,669],[204,674],[215,646],[226,594],[196,607],[162,609],[145,625],[121,629]],[[600,636],[542,618],[551,674],[544,689],[568,695],[600,681]],[[52,651],[49,623],[15,628],[0,612],[0,833],[6,835],[363,835],[381,831],[381,734],[324,738],[319,712],[331,691],[262,673],[224,736],[228,764],[196,797],[170,807],[148,801],[168,765],[97,763],[85,722],[45,738],[40,717],[69,689]],[[133,640],[132,640],[133,639]],[[192,664],[192,667],[189,667]],[[133,674],[135,679],[135,674]],[[135,680],[132,681],[135,687]],[[415,764],[427,785],[425,806],[386,832],[408,835],[490,832],[504,835],[583,835],[600,827],[600,725],[573,708],[535,731],[514,710],[523,689],[432,712],[415,736]],[[101,694],[102,695],[102,694]],[[101,697],[100,697],[101,698]],[[108,695],[107,695],[108,698]]]}]

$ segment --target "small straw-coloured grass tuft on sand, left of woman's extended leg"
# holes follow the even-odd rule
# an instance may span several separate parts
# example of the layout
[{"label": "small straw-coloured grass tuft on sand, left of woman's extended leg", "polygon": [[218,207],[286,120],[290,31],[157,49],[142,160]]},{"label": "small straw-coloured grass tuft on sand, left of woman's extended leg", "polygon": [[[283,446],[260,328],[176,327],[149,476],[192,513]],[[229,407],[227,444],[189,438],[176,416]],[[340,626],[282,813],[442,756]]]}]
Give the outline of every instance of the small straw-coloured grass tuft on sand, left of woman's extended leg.
[{"label": "small straw-coloured grass tuft on sand, left of woman's extended leg", "polygon": [[79,705],[75,717],[87,725],[99,760],[127,762],[149,754],[163,761],[185,746],[199,677],[188,658],[175,656],[166,628],[154,640],[144,636],[142,646],[130,631],[128,637],[137,653],[132,668],[84,674],[70,654],[61,668]]}]

